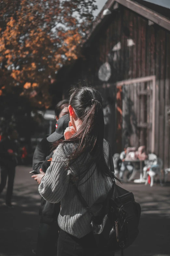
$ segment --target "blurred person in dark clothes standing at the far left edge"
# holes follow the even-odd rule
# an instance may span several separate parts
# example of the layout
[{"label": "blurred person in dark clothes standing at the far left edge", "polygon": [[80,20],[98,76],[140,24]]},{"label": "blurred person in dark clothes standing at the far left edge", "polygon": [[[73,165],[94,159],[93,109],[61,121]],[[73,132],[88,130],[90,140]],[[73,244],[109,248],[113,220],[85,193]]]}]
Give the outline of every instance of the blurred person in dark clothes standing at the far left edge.
[{"label": "blurred person in dark clothes standing at the far left edge", "polygon": [[17,157],[19,155],[18,133],[13,128],[8,128],[6,135],[2,135],[0,141],[0,169],[1,169],[1,183],[0,193],[6,186],[7,178],[7,194],[6,205],[12,208],[11,199],[13,193],[13,185],[15,178],[15,167],[17,166]]}]

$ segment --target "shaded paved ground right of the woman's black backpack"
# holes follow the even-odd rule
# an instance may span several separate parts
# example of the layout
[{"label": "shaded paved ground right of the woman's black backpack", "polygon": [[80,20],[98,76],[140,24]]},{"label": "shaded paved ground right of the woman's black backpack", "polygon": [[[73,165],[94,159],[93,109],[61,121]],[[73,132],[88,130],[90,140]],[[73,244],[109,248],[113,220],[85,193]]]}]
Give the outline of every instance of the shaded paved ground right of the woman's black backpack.
[{"label": "shaded paved ground right of the woman's black backpack", "polygon": [[134,193],[142,209],[139,235],[134,244],[124,250],[124,255],[170,256],[170,183],[150,187],[131,182],[123,187]]}]

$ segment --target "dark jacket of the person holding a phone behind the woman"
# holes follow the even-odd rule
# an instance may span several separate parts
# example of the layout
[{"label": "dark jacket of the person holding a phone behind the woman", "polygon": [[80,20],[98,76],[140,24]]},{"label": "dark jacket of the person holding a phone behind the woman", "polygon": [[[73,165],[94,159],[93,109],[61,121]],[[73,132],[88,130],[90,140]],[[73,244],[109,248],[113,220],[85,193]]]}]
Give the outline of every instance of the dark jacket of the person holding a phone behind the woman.
[{"label": "dark jacket of the person holding a phone behind the woman", "polygon": [[[50,158],[52,158],[53,150],[51,149],[51,143],[47,141],[47,137],[43,138],[35,148],[33,156],[33,170],[40,173],[41,168],[43,172],[46,172],[50,166]],[[41,216],[41,223],[51,223],[57,221],[58,214],[60,212],[60,203],[53,204],[47,202],[43,197],[41,198],[41,206],[39,209],[39,215]]]}]

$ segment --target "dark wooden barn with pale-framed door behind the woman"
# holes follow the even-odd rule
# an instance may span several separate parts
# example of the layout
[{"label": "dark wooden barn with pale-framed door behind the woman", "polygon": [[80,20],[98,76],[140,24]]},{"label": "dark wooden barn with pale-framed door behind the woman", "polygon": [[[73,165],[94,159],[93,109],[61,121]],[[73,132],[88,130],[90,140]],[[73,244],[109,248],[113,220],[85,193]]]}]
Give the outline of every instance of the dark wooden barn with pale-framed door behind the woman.
[{"label": "dark wooden barn with pale-framed door behind the woman", "polygon": [[145,145],[170,167],[170,1],[150,2],[108,0],[84,57],[59,72],[58,85],[65,96],[78,80],[102,93],[105,137],[115,153]]}]

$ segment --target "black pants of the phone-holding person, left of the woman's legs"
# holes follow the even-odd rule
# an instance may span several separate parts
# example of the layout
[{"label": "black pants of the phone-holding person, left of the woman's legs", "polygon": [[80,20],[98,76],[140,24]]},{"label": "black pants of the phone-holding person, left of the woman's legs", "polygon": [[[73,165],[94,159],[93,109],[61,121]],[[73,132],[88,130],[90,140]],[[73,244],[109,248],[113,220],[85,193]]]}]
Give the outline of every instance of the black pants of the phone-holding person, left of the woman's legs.
[{"label": "black pants of the phone-holding person, left of the woman's legs", "polygon": [[36,247],[37,256],[57,255],[58,230],[59,230],[59,227],[58,227],[57,221],[49,224],[46,224],[46,223],[39,224],[37,247]]}]

